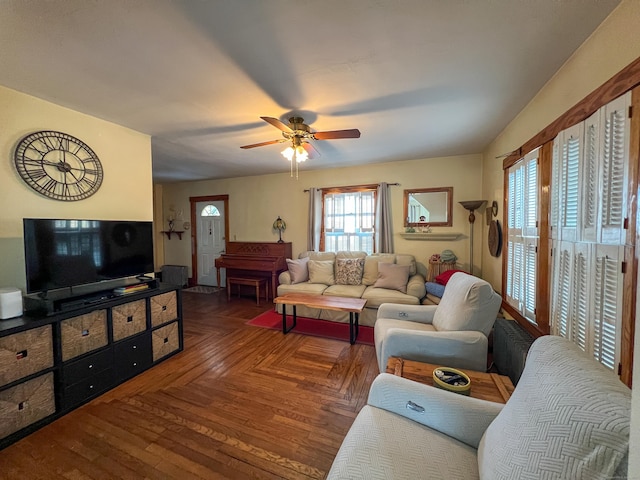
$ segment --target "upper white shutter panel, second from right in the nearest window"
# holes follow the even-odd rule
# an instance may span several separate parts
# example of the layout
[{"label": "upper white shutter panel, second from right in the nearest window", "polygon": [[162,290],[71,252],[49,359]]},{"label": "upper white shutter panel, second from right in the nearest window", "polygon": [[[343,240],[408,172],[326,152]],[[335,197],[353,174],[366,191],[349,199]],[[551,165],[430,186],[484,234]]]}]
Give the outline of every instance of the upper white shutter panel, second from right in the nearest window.
[{"label": "upper white shutter panel, second from right in the nearest window", "polygon": [[600,110],[584,122],[584,160],[582,162],[582,235],[585,242],[596,242],[599,230],[600,159],[602,158]]}]

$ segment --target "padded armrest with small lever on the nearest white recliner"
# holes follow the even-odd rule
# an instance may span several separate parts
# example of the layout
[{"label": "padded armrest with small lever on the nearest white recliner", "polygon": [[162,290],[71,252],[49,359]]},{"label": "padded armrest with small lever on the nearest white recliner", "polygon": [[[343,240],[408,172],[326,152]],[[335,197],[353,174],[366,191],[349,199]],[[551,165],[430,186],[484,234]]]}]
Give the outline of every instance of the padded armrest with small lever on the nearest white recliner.
[{"label": "padded armrest with small lever on the nearest white recliner", "polygon": [[485,430],[504,407],[500,403],[446,392],[388,373],[381,373],[373,381],[367,403],[476,449]]}]

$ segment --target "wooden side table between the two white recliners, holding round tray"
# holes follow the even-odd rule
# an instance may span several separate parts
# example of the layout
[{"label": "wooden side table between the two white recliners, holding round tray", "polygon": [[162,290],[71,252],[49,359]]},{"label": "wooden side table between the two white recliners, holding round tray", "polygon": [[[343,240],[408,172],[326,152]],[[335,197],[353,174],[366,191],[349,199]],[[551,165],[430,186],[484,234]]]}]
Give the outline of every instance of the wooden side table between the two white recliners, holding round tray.
[{"label": "wooden side table between the two white recliners, holding round tray", "polygon": [[[442,366],[446,365],[432,365],[431,363],[389,357],[387,373],[433,386],[433,370]],[[491,402],[507,403],[513,393],[513,383],[505,375],[463,370],[461,368],[458,370],[462,370],[471,379],[471,397]]]}]

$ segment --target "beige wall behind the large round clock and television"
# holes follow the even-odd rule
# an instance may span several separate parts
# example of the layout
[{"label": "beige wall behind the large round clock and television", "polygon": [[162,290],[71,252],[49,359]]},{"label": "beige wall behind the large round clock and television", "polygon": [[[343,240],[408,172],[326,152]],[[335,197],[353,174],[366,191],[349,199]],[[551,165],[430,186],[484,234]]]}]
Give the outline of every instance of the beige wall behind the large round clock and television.
[{"label": "beige wall behind the large round clock and television", "polygon": [[[0,87],[0,287],[24,290],[22,219],[153,219],[151,138],[148,135]],[[104,169],[101,188],[78,202],[45,198],[18,176],[13,153],[26,135],[57,130],[89,145]]]}]

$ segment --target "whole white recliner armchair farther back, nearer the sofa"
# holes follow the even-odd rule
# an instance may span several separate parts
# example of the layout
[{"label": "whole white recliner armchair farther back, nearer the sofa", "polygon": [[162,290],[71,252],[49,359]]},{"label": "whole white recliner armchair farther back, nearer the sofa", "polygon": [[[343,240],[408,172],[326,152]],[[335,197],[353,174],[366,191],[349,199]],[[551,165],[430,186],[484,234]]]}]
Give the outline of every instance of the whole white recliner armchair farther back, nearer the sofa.
[{"label": "whole white recliner armchair farther back, nearer the sofa", "polygon": [[488,282],[458,272],[439,305],[382,304],[374,330],[380,372],[390,356],[486,371],[488,336],[501,302]]}]

